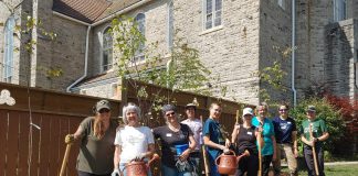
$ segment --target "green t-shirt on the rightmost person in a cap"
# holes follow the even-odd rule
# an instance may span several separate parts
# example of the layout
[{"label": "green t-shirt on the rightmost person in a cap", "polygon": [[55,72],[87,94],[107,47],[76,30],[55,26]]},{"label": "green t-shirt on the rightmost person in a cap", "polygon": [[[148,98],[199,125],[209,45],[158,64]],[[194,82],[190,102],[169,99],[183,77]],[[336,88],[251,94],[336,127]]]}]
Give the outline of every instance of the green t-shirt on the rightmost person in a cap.
[{"label": "green t-shirt on the rightmost person in a cap", "polygon": [[[324,120],[322,119],[315,119],[313,122],[305,120],[302,122],[299,132],[302,135],[306,138],[306,140],[310,141],[309,136],[309,123],[312,123],[312,133],[314,138],[319,138],[323,135],[324,132],[327,132],[327,127]],[[322,141],[318,141],[317,143],[322,143]],[[306,144],[305,144],[306,145]]]}]

